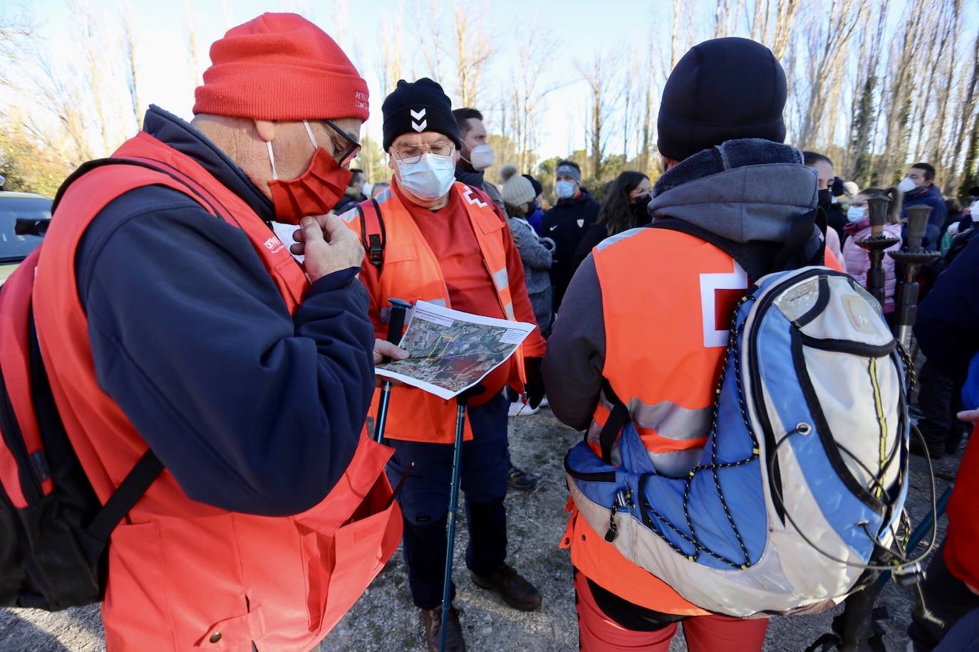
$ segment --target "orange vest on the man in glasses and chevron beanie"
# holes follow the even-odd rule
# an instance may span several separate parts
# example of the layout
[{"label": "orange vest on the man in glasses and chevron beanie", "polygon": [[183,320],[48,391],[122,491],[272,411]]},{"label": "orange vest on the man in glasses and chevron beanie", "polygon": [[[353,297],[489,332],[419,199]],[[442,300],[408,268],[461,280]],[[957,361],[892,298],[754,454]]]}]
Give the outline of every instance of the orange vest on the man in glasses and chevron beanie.
[{"label": "orange vest on the man in glasses and chevron beanie", "polygon": [[[507,319],[515,319],[513,297],[510,293],[510,280],[506,267],[506,247],[504,238],[508,237],[506,224],[496,215],[492,206],[483,201],[465,184],[456,182],[449,191],[461,198],[466,214],[473,225],[473,232],[483,253],[483,263],[489,272],[496,289],[496,296]],[[450,198],[451,200],[451,198]],[[415,301],[429,301],[451,307],[448,288],[442,274],[439,259],[425,240],[411,213],[401,203],[396,193],[389,190],[378,197],[381,217],[384,221],[386,244],[384,267],[378,281],[379,294],[374,297],[380,306],[388,305],[389,298]],[[363,211],[371,211],[370,201],[361,204]],[[356,209],[341,216],[356,234],[360,234],[360,216]],[[375,330],[381,325],[375,324]],[[524,356],[541,356],[542,350],[525,344],[517,350],[516,369],[509,383],[518,391],[523,389]],[[381,391],[374,393],[371,413],[377,413]],[[456,402],[443,401],[437,396],[417,389],[394,387],[391,390],[391,403],[385,437],[416,442],[451,444],[455,440]],[[467,416],[465,440],[472,439],[473,433]]]}]

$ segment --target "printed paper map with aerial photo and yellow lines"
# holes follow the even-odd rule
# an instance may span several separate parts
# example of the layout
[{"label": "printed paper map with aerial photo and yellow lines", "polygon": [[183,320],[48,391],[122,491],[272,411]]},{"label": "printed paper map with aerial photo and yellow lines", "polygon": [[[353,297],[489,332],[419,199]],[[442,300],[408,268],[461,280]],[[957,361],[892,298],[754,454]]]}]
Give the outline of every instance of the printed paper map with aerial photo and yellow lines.
[{"label": "printed paper map with aerial photo and yellow lines", "polygon": [[479,383],[489,371],[509,360],[536,328],[450,310],[419,301],[400,347],[411,357],[375,372],[449,400]]}]

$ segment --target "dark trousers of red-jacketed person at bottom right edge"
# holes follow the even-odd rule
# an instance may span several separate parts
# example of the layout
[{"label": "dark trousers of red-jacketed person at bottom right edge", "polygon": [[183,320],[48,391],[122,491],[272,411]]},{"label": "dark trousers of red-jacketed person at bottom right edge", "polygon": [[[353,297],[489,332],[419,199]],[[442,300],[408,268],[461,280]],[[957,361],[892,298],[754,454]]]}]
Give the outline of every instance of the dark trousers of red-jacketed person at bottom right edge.
[{"label": "dark trousers of red-jacketed person at bottom right edge", "polygon": [[959,620],[979,608],[979,595],[970,591],[945,565],[945,543],[931,557],[928,572],[921,581],[921,595],[924,602],[915,605],[908,628],[915,652],[934,649]]}]

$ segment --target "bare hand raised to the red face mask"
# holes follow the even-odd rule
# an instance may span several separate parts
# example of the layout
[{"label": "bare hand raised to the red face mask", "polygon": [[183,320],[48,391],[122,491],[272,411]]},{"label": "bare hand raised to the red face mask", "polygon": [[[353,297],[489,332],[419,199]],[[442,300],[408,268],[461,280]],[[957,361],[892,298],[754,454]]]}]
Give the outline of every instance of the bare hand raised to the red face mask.
[{"label": "bare hand raised to the red face mask", "polygon": [[303,217],[300,230],[293,239],[297,243],[290,247],[290,251],[305,255],[305,270],[312,283],[334,272],[359,268],[363,263],[360,239],[332,213]]}]

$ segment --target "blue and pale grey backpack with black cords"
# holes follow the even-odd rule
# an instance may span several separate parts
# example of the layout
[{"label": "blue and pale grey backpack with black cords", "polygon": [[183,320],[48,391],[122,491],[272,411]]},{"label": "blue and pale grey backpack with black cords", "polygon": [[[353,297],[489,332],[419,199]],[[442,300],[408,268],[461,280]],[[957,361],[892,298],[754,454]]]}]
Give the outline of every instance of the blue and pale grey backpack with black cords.
[{"label": "blue and pale grey backpack with black cords", "polygon": [[582,442],[565,458],[576,506],[630,562],[708,611],[832,606],[894,558],[907,364],[849,276],[821,265],[764,276],[734,312],[698,463],[658,472],[606,381],[615,407],[601,457]]}]

